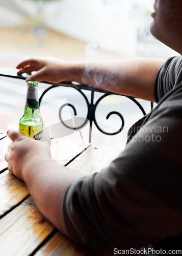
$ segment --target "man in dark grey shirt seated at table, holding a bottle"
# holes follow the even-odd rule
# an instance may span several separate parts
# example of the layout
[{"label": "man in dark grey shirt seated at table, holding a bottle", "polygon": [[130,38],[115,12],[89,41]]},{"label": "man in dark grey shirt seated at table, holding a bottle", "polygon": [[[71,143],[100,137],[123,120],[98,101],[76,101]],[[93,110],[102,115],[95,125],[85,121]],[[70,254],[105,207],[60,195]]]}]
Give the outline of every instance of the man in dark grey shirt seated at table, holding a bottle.
[{"label": "man in dark grey shirt seated at table, holding a bottle", "polygon": [[[155,0],[150,27],[153,36],[179,54],[181,10],[181,0]],[[5,156],[8,169],[24,180],[42,214],[78,243],[110,251],[147,248],[148,244],[152,244],[150,248],[175,249],[181,244],[182,58],[163,62],[89,62],[86,70],[84,61],[33,58],[17,66],[18,74],[37,71],[29,80],[74,80],[158,102],[137,123],[141,126],[138,133],[129,138],[120,156],[88,177],[51,160],[49,141],[8,132],[12,140]],[[94,80],[95,74],[99,81]]]}]

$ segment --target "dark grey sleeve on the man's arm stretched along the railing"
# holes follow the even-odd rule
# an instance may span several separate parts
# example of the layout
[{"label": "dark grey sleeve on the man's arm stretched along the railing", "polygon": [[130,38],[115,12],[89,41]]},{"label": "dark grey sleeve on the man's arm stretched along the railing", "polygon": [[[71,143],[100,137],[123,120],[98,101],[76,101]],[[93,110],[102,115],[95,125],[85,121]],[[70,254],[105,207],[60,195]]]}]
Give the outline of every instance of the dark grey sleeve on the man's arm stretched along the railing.
[{"label": "dark grey sleeve on the man's arm stretched along the railing", "polygon": [[181,55],[169,58],[160,68],[155,79],[154,97],[159,100],[171,91],[182,80],[182,57]]}]

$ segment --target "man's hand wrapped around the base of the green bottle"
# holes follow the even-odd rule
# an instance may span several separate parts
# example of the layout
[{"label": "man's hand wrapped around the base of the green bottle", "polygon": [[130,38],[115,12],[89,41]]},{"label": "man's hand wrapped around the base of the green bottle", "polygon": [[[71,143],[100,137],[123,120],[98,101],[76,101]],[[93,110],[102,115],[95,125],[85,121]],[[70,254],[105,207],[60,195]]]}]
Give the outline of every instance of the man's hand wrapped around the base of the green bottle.
[{"label": "man's hand wrapped around the base of the green bottle", "polygon": [[12,143],[8,146],[5,160],[8,170],[19,179],[24,180],[24,172],[32,164],[50,159],[50,139],[43,136],[39,141],[23,135],[20,131],[8,131]]}]

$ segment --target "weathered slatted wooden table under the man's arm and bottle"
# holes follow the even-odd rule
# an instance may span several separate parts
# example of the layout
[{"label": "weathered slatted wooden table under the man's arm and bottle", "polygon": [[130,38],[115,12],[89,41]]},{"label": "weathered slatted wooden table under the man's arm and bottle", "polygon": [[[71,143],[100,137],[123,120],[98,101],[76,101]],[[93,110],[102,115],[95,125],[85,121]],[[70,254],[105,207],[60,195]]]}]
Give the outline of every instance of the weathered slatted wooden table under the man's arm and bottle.
[{"label": "weathered slatted wooden table under the man's arm and bottle", "polygon": [[[42,216],[27,186],[7,169],[4,155],[10,142],[6,131],[0,131],[0,255],[103,255],[75,244]],[[84,148],[66,138],[52,141],[51,153],[60,164],[86,175],[99,171],[119,154],[113,147],[88,143]]]}]

